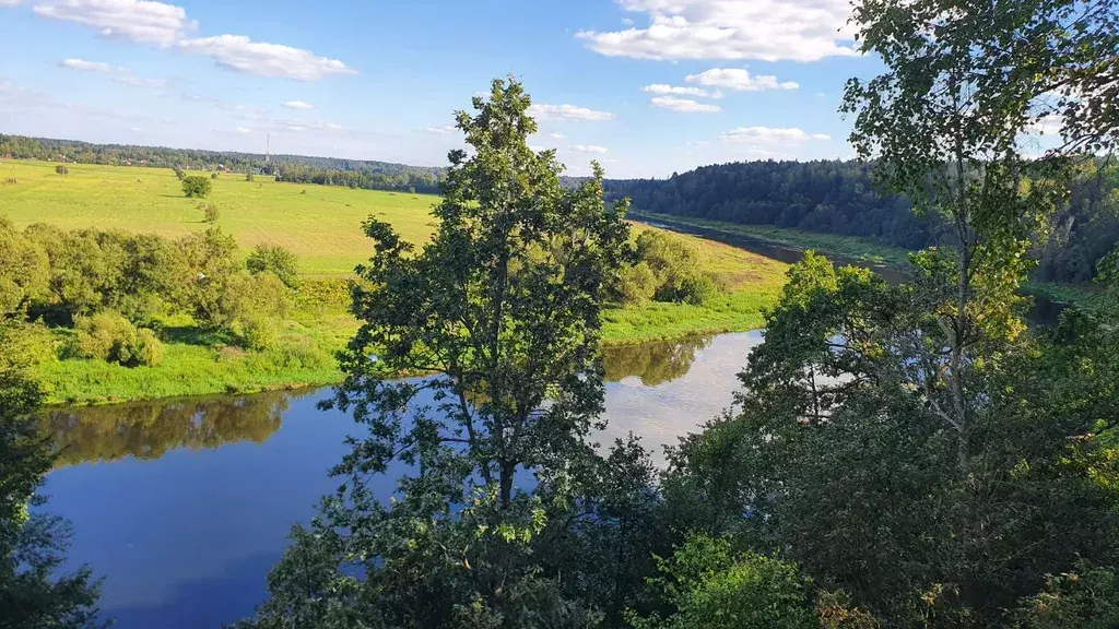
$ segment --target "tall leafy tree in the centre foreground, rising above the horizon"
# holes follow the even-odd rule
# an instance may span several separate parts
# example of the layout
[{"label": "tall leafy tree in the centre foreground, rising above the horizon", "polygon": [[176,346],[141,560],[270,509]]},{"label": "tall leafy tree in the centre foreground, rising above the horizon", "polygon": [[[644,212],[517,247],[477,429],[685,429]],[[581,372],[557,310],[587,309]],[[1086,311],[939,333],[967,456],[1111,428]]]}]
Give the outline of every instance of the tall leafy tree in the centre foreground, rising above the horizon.
[{"label": "tall leafy tree in the centre foreground, rising above the horizon", "polygon": [[[561,186],[554,151],[528,148],[529,104],[510,78],[457,114],[470,151],[450,153],[438,232],[422,250],[366,223],[376,252],[358,269],[361,327],[332,403],[368,433],[335,469],[346,479],[338,496],[294,531],[256,626],[543,628],[596,617],[568,595],[572,575],[547,564],[556,539],[590,537],[575,527],[589,514],[609,523],[640,510],[587,498],[611,472],[586,436],[603,407],[601,302],[628,246],[626,205],[604,205],[598,167],[581,187]],[[369,479],[402,464],[389,505]],[[601,495],[624,494],[619,504],[651,499],[619,489],[624,479],[602,485]],[[611,591],[632,580],[612,576]]]}]

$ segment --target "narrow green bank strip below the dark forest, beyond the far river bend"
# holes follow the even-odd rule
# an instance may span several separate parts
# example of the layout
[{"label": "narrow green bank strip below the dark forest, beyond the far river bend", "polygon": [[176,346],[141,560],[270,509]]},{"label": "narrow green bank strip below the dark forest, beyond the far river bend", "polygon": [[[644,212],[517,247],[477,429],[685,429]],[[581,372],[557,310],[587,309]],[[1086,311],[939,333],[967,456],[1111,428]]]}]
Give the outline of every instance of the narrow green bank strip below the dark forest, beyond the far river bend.
[{"label": "narrow green bank strip below the dark forest, beyond the far river bend", "polygon": [[[849,261],[869,266],[883,266],[902,272],[909,266],[910,251],[855,236],[815,234],[759,225],[736,225],[733,223],[667,214],[642,212],[631,212],[630,214],[636,220],[667,228],[692,231],[704,237],[718,238],[720,235],[723,235],[735,240],[749,238],[759,243],[783,247],[797,254],[807,250],[814,250],[839,261]],[[787,262],[791,261],[791,259],[787,260]],[[1100,307],[1099,292],[1089,285],[1029,281],[1022,285],[1022,292],[1055,303],[1075,306],[1088,310]]]}]

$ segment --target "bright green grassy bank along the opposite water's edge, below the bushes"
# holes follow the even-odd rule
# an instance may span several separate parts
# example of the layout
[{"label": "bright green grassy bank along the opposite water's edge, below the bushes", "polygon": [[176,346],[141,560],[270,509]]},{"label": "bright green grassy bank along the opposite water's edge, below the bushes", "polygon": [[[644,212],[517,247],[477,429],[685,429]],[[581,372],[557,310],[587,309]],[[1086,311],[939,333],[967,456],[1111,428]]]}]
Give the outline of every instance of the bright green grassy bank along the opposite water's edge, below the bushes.
[{"label": "bright green grassy bank along the opposite water's edge, below the bushes", "polygon": [[[637,226],[637,231],[648,229]],[[788,265],[728,244],[684,236],[699,253],[702,269],[724,290],[702,306],[647,302],[603,313],[603,344],[624,346],[696,335],[747,331],[763,326]],[[335,353],[357,331],[347,311],[344,278],[305,279],[273,347],[237,348],[200,334],[189,321],[163,327],[167,354],[153,366],[124,367],[68,357],[72,330],[39,329],[46,347],[36,375],[51,405],[114,404],[217,393],[258,393],[327,386],[341,381]]]}]

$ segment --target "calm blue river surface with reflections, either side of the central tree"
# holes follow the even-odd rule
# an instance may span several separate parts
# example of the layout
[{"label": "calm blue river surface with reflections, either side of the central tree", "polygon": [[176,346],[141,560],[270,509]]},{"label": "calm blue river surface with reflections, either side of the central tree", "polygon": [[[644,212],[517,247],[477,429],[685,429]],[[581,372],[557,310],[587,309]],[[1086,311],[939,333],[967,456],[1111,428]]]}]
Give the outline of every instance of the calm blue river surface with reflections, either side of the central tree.
[{"label": "calm blue river surface with reflections, either side of the central tree", "polygon": [[[756,332],[608,351],[603,443],[661,444],[728,406]],[[64,448],[47,508],[74,526],[70,567],[105,578],[120,629],[220,627],[251,616],[291,525],[338,481],[358,426],[318,411],[327,391],[162,401],[53,413]],[[399,470],[396,471],[399,473]],[[387,496],[394,475],[384,479]]]}]

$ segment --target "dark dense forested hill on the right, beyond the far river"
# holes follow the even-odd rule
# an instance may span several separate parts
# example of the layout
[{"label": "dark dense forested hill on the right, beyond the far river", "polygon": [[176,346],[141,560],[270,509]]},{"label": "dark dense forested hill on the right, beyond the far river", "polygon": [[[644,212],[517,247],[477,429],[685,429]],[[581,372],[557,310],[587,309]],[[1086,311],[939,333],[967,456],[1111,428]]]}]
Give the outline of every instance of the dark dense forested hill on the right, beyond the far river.
[{"label": "dark dense forested hill on the right, beyond the far river", "polygon": [[[1036,252],[1040,281],[1087,282],[1119,242],[1116,171],[1098,167],[1073,188]],[[633,212],[872,238],[916,250],[944,237],[937,218],[908,199],[875,191],[871,166],[857,161],[752,161],[705,166],[668,179],[604,182],[608,199],[629,197]]]}]

